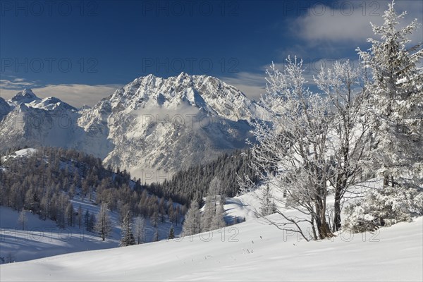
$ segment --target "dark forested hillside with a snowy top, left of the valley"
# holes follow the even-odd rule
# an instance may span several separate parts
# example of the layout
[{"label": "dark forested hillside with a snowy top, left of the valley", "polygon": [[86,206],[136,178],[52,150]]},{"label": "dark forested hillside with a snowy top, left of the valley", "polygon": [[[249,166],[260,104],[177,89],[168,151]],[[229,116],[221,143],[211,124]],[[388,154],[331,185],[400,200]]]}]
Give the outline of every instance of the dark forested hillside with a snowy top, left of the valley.
[{"label": "dark forested hillside with a snowy top, left of the valley", "polygon": [[58,226],[75,226],[82,214],[71,199],[78,195],[95,204],[106,203],[121,219],[131,212],[153,224],[168,218],[178,224],[185,207],[171,199],[157,197],[131,180],[126,171],[111,171],[102,161],[73,149],[41,147],[22,149],[1,157],[0,204],[16,210],[30,210]]}]

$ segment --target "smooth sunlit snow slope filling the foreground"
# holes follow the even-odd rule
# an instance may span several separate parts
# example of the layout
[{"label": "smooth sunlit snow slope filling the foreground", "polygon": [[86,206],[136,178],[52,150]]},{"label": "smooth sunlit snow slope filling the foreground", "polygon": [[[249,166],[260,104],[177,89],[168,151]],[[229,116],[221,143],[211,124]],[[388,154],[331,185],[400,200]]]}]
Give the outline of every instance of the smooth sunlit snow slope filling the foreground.
[{"label": "smooth sunlit snow slope filling the foreground", "polygon": [[[276,216],[276,215],[274,215]],[[422,217],[305,242],[247,221],[183,240],[3,264],[1,281],[422,281]],[[224,237],[223,237],[224,234]],[[25,269],[25,271],[23,271]]]}]

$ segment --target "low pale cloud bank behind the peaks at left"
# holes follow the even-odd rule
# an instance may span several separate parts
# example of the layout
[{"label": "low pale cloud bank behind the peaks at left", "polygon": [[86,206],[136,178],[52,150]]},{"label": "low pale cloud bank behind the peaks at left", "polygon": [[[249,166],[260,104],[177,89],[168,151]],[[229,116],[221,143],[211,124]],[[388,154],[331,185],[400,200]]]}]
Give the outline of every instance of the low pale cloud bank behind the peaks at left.
[{"label": "low pale cloud bank behind the peaks at left", "polygon": [[0,97],[11,99],[17,92],[23,88],[31,88],[37,97],[56,97],[63,102],[80,107],[84,104],[93,106],[104,97],[116,91],[123,85],[81,85],[81,84],[62,84],[62,85],[45,85],[39,87],[30,82],[19,83],[9,80],[0,80]]}]

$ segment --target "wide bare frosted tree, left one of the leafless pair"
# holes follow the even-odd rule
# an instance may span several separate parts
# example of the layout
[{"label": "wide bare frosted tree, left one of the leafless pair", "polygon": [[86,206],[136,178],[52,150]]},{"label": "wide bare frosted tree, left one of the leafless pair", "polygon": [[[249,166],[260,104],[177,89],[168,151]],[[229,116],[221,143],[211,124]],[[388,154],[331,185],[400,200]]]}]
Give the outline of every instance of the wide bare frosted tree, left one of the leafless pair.
[{"label": "wide bare frosted tree, left one of the leafless pair", "polygon": [[[267,73],[266,93],[260,103],[272,114],[272,124],[253,121],[257,144],[252,146],[252,168],[267,185],[274,186],[287,197],[277,199],[304,215],[302,218],[287,216],[285,221],[274,223],[279,228],[306,235],[299,225],[309,223],[314,239],[330,237],[326,219],[326,197],[330,178],[328,134],[331,117],[327,114],[328,100],[312,93],[306,87],[302,61],[288,57],[283,72],[274,64]],[[255,186],[250,178],[240,181],[244,188]],[[293,228],[288,225],[293,224]]]}]

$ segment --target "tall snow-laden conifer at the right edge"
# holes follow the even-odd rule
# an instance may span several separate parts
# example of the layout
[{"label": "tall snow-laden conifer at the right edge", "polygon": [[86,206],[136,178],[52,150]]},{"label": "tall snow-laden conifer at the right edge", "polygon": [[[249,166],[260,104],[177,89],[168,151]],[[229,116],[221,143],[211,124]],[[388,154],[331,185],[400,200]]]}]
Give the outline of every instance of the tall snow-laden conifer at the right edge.
[{"label": "tall snow-laden conifer at the right edge", "polygon": [[422,44],[410,45],[417,20],[399,27],[406,12],[398,15],[394,1],[384,13],[383,25],[374,25],[369,51],[357,49],[371,74],[368,116],[373,138],[372,167],[384,186],[419,186],[423,178],[423,73]]}]

